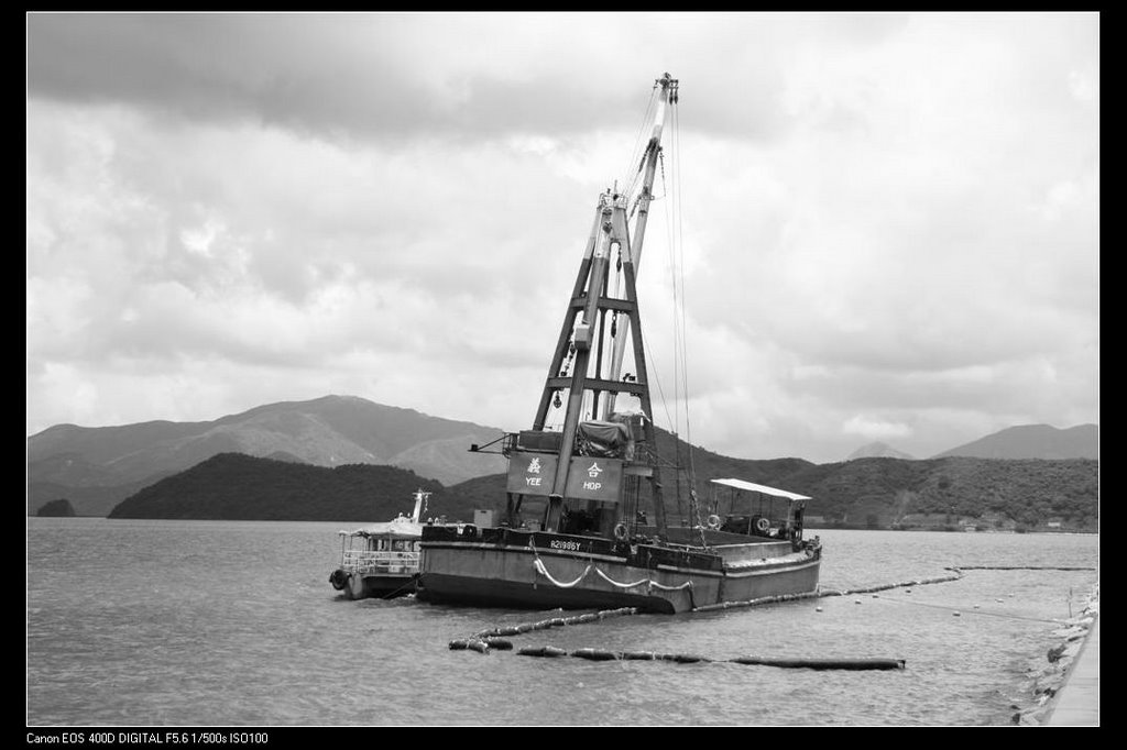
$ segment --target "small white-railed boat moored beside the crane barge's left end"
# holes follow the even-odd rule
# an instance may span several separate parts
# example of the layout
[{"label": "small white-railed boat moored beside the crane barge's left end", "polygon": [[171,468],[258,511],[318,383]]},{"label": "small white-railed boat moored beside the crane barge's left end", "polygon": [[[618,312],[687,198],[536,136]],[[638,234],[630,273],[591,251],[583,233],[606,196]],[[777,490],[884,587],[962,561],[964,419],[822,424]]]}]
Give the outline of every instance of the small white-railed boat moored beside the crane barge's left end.
[{"label": "small white-railed boat moored beside the crane barge's left end", "polygon": [[329,583],[349,599],[394,599],[415,593],[419,572],[421,515],[429,492],[415,492],[410,517],[399,514],[385,524],[374,524],[340,535],[340,566]]}]

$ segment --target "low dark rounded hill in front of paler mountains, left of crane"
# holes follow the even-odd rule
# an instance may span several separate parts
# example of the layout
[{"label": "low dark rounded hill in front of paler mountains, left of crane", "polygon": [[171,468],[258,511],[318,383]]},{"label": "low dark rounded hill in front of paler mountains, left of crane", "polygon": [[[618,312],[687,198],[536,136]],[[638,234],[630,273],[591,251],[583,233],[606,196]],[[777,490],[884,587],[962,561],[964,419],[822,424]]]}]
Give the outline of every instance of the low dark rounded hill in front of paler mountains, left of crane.
[{"label": "low dark rounded hill in front of paler mountains, left of crane", "polygon": [[433,492],[432,515],[472,518],[438,482],[394,466],[332,468],[224,453],[144,488],[109,518],[332,520],[371,524],[410,512],[411,494]]}]

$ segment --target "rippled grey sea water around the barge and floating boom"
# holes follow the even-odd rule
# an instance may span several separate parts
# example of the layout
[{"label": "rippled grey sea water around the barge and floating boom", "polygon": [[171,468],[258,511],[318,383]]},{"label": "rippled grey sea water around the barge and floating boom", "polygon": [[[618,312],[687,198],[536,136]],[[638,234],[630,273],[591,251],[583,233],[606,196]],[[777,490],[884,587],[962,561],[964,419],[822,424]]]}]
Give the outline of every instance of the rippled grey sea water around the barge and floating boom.
[{"label": "rippled grey sea water around the barge and floating boom", "polygon": [[[354,526],[29,518],[28,724],[1005,725],[1032,699],[1027,670],[1056,644],[1053,620],[1077,613],[1098,580],[1094,570],[967,571],[876,597],[513,639],[712,659],[907,660],[899,671],[547,660],[449,649],[545,613],[341,598],[328,574],[337,529]],[[1091,535],[818,534],[822,584],[835,589],[942,577],[956,564],[1095,568],[1099,556]]]}]

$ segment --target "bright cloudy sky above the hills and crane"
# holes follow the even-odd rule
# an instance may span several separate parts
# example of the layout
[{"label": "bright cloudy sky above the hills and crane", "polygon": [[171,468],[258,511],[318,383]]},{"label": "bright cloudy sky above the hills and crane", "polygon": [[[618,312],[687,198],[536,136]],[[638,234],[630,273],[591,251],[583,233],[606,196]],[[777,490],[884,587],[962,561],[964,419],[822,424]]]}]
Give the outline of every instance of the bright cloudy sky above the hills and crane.
[{"label": "bright cloudy sky above the hills and crane", "polygon": [[28,435],[328,394],[527,429],[665,72],[659,426],[827,463],[1099,422],[1099,14],[26,21]]}]

